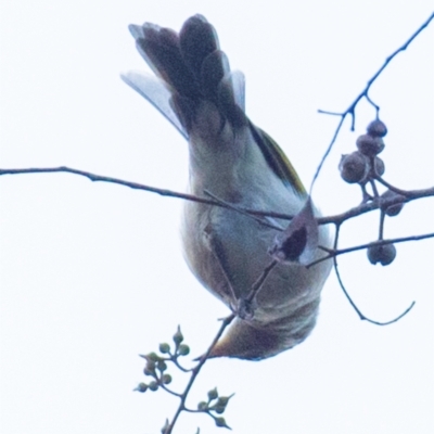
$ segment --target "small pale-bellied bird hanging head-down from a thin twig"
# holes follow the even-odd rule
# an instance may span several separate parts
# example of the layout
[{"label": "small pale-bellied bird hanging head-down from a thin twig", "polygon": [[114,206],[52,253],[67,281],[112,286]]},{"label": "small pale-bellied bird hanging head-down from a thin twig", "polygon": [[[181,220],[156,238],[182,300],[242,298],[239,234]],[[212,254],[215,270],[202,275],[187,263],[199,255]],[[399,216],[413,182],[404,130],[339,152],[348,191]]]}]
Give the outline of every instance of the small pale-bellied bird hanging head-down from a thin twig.
[{"label": "small pale-bellied bird hanging head-down from a thin twig", "polygon": [[[247,117],[244,75],[231,71],[203,15],[189,17],[179,33],[152,23],[129,30],[153,74],[128,72],[123,80],[188,141],[189,193],[217,201],[186,201],[181,225],[190,270],[235,314],[209,358],[261,360],[294,347],[316,324],[331,261],[309,268],[279,261],[252,299],[252,288],[272,261],[270,247],[289,222],[239,209],[296,215],[309,200],[306,189],[281,148]],[[330,245],[323,226],[318,243]],[[314,251],[314,259],[322,256]]]}]

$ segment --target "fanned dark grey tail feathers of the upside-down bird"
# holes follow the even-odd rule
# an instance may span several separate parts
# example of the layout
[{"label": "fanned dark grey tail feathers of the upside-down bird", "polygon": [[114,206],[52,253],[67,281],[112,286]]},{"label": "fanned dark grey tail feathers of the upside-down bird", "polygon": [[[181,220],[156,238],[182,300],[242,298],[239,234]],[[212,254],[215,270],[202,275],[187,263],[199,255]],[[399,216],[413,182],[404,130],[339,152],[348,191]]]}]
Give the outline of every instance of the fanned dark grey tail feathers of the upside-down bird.
[{"label": "fanned dark grey tail feathers of the upside-down bird", "polygon": [[[124,80],[154,104],[186,137],[204,101],[233,127],[246,125],[244,76],[231,72],[216,30],[202,15],[187,20],[179,34],[144,23],[130,25],[137,48],[159,79],[128,73]],[[171,113],[170,113],[171,112]]]}]

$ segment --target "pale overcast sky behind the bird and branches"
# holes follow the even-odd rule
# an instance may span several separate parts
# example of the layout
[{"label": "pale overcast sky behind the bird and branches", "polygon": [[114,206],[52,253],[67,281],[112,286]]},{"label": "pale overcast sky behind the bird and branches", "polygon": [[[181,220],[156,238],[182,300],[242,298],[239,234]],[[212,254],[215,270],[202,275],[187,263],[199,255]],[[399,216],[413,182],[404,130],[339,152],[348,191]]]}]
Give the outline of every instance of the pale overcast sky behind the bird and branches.
[{"label": "pale overcast sky behind the bird and branches", "polygon": [[[246,76],[252,120],[284,149],[309,183],[339,118],[367,80],[432,13],[419,1],[82,1],[1,4],[0,167],[74,168],[183,191],[181,136],[119,73],[146,69],[128,33],[144,21],[177,30],[192,14],[215,25],[232,68]],[[434,23],[372,87],[387,124],[385,177],[404,189],[434,184]],[[314,193],[324,214],[360,201],[336,166],[356,131],[344,125]],[[0,178],[2,434],[158,433],[177,400],[133,393],[137,355],[181,324],[192,356],[217,331],[224,305],[183,263],[182,201],[67,174]],[[344,227],[341,245],[372,241],[378,214]],[[385,235],[433,231],[433,200],[387,220]],[[400,244],[390,267],[366,253],[341,258],[358,319],[333,276],[318,326],[298,347],[260,361],[210,360],[190,405],[215,386],[235,393],[234,433],[434,432],[434,242]],[[187,358],[190,360],[190,357]],[[182,386],[183,376],[173,370]],[[221,432],[182,414],[176,433]]]}]

